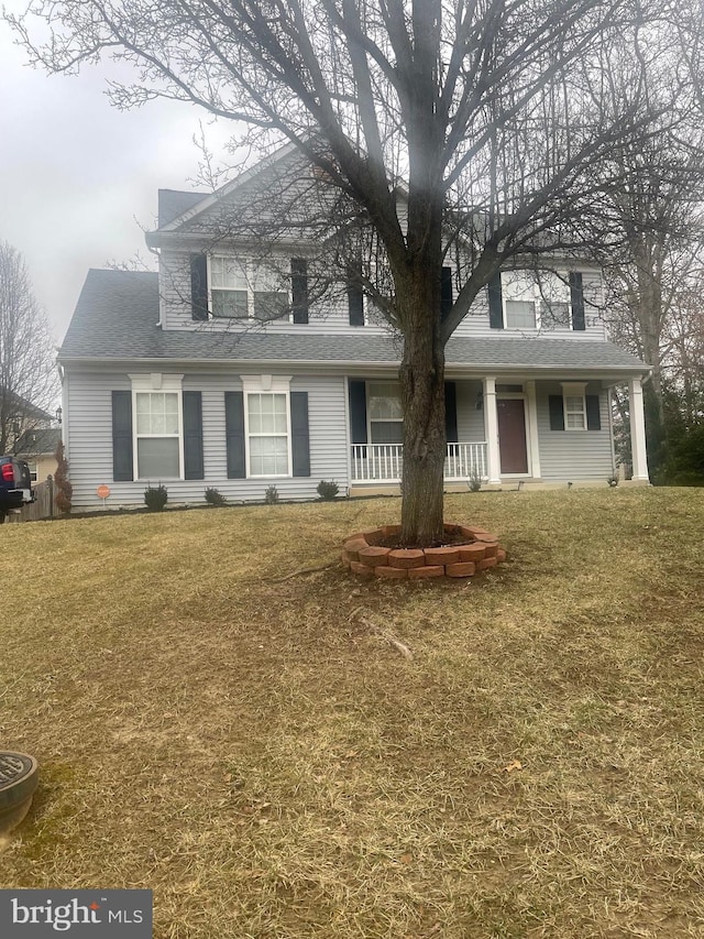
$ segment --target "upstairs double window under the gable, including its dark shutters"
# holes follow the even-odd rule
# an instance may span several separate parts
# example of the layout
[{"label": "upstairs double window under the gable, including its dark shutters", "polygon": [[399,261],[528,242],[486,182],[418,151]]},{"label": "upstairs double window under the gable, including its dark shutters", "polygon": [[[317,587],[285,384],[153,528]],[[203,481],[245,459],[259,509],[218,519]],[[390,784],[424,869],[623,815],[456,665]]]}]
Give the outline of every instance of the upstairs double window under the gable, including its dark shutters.
[{"label": "upstairs double window under the gable, including its dark shutters", "polygon": [[193,318],[308,323],[308,270],[301,258],[288,271],[232,254],[190,259]]}]

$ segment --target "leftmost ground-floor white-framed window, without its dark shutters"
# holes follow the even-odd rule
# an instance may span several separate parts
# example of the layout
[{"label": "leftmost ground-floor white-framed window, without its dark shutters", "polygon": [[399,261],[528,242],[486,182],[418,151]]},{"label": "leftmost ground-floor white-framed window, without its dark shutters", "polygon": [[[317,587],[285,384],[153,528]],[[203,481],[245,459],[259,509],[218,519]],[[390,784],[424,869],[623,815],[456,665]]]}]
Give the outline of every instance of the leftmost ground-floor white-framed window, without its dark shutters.
[{"label": "leftmost ground-floor white-framed window, without its dark shutters", "polygon": [[136,479],[183,479],[183,375],[130,375]]}]

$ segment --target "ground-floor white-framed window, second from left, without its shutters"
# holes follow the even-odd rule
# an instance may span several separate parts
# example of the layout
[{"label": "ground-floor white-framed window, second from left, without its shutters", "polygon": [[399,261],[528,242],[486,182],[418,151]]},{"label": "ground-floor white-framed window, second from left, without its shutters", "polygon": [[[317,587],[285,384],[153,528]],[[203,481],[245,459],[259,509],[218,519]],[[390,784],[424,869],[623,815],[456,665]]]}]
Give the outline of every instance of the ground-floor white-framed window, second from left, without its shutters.
[{"label": "ground-floor white-framed window, second from left, without its shutters", "polygon": [[243,376],[248,477],[293,476],[290,376]]}]

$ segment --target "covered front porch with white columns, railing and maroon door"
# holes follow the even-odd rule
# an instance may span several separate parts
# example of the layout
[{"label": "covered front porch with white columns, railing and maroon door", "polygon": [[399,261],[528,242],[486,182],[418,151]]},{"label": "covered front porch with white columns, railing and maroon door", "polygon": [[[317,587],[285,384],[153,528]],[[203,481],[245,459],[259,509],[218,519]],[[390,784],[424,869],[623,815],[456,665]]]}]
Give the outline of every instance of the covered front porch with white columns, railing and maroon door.
[{"label": "covered front porch with white columns, railing and maroon door", "polygon": [[[522,481],[604,484],[616,473],[610,416],[614,381],[587,374],[525,374],[446,382],[447,456],[451,488]],[[648,482],[640,378],[628,378],[634,481]],[[403,478],[398,386],[349,380],[349,479],[354,494],[395,489]]]}]

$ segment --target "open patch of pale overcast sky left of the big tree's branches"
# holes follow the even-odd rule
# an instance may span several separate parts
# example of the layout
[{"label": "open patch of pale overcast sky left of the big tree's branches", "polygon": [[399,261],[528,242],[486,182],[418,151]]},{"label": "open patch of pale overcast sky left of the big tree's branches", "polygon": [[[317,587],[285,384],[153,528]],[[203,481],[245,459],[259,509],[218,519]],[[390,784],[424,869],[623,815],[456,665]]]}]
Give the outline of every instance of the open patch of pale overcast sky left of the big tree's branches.
[{"label": "open patch of pale overcast sky left of the big tree's branches", "polygon": [[157,189],[204,188],[194,134],[206,121],[217,149],[226,128],[172,101],[118,111],[110,63],[67,77],[25,62],[0,22],[0,240],[24,255],[59,343],[88,267],[138,252],[153,265],[140,226],[155,226]]}]

